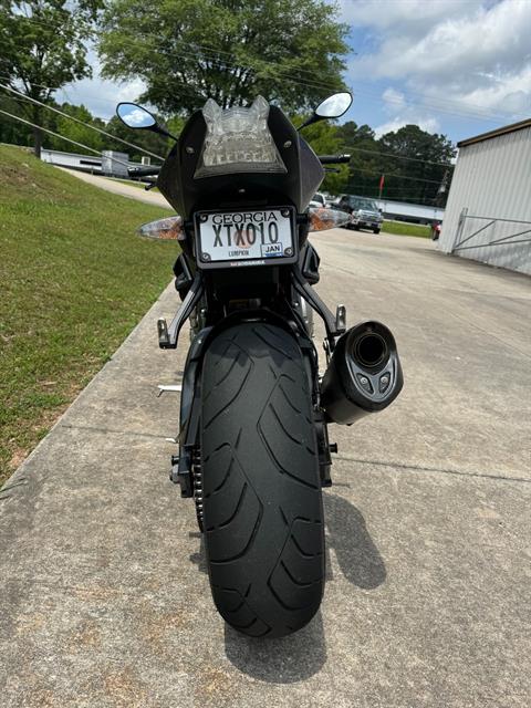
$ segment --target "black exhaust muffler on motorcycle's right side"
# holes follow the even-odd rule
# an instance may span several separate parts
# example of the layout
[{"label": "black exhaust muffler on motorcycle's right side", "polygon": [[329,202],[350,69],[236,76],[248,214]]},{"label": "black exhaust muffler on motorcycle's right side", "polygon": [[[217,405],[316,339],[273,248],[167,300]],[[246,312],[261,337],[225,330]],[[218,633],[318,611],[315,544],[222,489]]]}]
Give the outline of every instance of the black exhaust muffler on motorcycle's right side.
[{"label": "black exhaust muffler on motorcycle's right side", "polygon": [[362,322],[337,341],[321,384],[329,419],[351,425],[383,410],[404,384],[395,337],[381,322]]}]

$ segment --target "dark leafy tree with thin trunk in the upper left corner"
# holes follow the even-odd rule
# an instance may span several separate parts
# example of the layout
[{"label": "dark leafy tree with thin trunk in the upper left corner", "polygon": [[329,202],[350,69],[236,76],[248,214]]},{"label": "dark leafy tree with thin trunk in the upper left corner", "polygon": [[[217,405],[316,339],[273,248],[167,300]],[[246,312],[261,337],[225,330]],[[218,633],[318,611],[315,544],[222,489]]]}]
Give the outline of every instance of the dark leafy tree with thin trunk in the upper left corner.
[{"label": "dark leafy tree with thin trunk in the upper left corner", "polygon": [[[86,40],[102,0],[0,0],[0,83],[46,103],[64,84],[91,75]],[[21,101],[19,114],[41,125],[43,108]],[[42,132],[33,131],[41,154]]]}]

